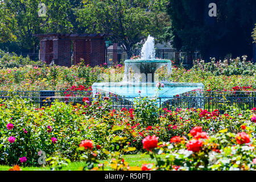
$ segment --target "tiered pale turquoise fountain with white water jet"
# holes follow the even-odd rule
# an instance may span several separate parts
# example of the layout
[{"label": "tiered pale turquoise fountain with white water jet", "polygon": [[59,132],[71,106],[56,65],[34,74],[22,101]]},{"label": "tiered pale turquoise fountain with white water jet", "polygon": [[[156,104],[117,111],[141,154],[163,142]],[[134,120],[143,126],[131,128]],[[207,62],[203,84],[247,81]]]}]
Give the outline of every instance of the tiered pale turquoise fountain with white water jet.
[{"label": "tiered pale turquoise fountain with white water jet", "polygon": [[177,94],[203,89],[202,83],[161,82],[163,88],[156,88],[156,70],[163,65],[167,67],[167,74],[172,73],[171,60],[155,59],[154,38],[150,35],[144,43],[141,59],[125,60],[125,73],[122,82],[95,82],[92,85],[94,96],[96,93],[113,93],[132,101],[139,94],[141,97],[162,98],[170,100]]}]

